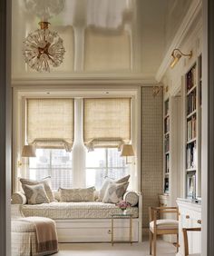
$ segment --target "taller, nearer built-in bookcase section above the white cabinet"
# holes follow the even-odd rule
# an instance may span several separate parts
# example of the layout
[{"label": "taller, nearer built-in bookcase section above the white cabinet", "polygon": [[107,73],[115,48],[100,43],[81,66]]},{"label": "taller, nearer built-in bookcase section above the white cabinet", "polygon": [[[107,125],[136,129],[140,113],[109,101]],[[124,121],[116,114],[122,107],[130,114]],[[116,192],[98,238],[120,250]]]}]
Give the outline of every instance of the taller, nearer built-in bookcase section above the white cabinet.
[{"label": "taller, nearer built-in bookcase section above the white cabinet", "polygon": [[185,74],[186,197],[201,195],[201,55]]}]

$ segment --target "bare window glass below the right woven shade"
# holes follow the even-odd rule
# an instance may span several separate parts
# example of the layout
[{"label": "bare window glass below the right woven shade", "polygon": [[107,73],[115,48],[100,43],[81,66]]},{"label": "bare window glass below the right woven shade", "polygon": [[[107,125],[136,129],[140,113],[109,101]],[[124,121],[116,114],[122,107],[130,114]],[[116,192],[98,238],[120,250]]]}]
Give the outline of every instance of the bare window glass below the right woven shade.
[{"label": "bare window glass below the right woven shade", "polygon": [[124,158],[115,148],[99,148],[86,153],[86,185],[102,187],[106,176],[120,179],[128,174],[128,167]]}]

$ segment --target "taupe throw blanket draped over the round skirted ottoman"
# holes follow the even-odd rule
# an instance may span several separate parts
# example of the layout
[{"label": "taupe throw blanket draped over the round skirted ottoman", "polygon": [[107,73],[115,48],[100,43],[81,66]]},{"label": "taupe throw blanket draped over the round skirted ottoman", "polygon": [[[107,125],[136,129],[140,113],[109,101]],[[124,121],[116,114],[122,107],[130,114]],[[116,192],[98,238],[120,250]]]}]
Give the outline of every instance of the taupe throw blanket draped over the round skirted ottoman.
[{"label": "taupe throw blanket draped over the round skirted ottoman", "polygon": [[32,222],[35,226],[37,246],[36,251],[54,253],[59,251],[58,238],[55,228],[55,222],[44,217],[26,217],[25,222]]}]

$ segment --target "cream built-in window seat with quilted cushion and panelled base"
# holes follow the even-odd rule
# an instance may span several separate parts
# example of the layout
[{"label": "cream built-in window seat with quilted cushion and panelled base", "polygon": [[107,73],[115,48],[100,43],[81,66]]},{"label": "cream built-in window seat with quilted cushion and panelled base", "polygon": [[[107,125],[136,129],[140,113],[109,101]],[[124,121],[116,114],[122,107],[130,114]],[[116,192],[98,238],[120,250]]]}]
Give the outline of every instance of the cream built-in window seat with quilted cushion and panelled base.
[{"label": "cream built-in window seat with quilted cushion and panelled base", "polygon": [[[127,209],[132,214],[132,241],[141,242],[141,194],[139,203]],[[24,194],[22,194],[24,198]],[[112,213],[122,213],[115,204],[104,202],[50,202],[26,204],[18,202],[17,193],[12,203],[19,203],[25,217],[41,216],[56,222],[59,242],[110,242]],[[129,219],[114,221],[114,237],[129,241]]]}]

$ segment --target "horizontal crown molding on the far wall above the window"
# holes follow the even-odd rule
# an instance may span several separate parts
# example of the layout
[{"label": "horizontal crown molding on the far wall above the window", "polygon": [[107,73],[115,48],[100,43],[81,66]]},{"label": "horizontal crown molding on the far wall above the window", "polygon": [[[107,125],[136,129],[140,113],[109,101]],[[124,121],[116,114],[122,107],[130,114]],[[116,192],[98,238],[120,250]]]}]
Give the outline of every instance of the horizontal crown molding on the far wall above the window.
[{"label": "horizontal crown molding on the far wall above the window", "polygon": [[152,74],[52,74],[52,76],[30,76],[12,79],[12,86],[21,85],[73,85],[73,84],[135,84],[148,85],[157,84],[154,75]]}]

